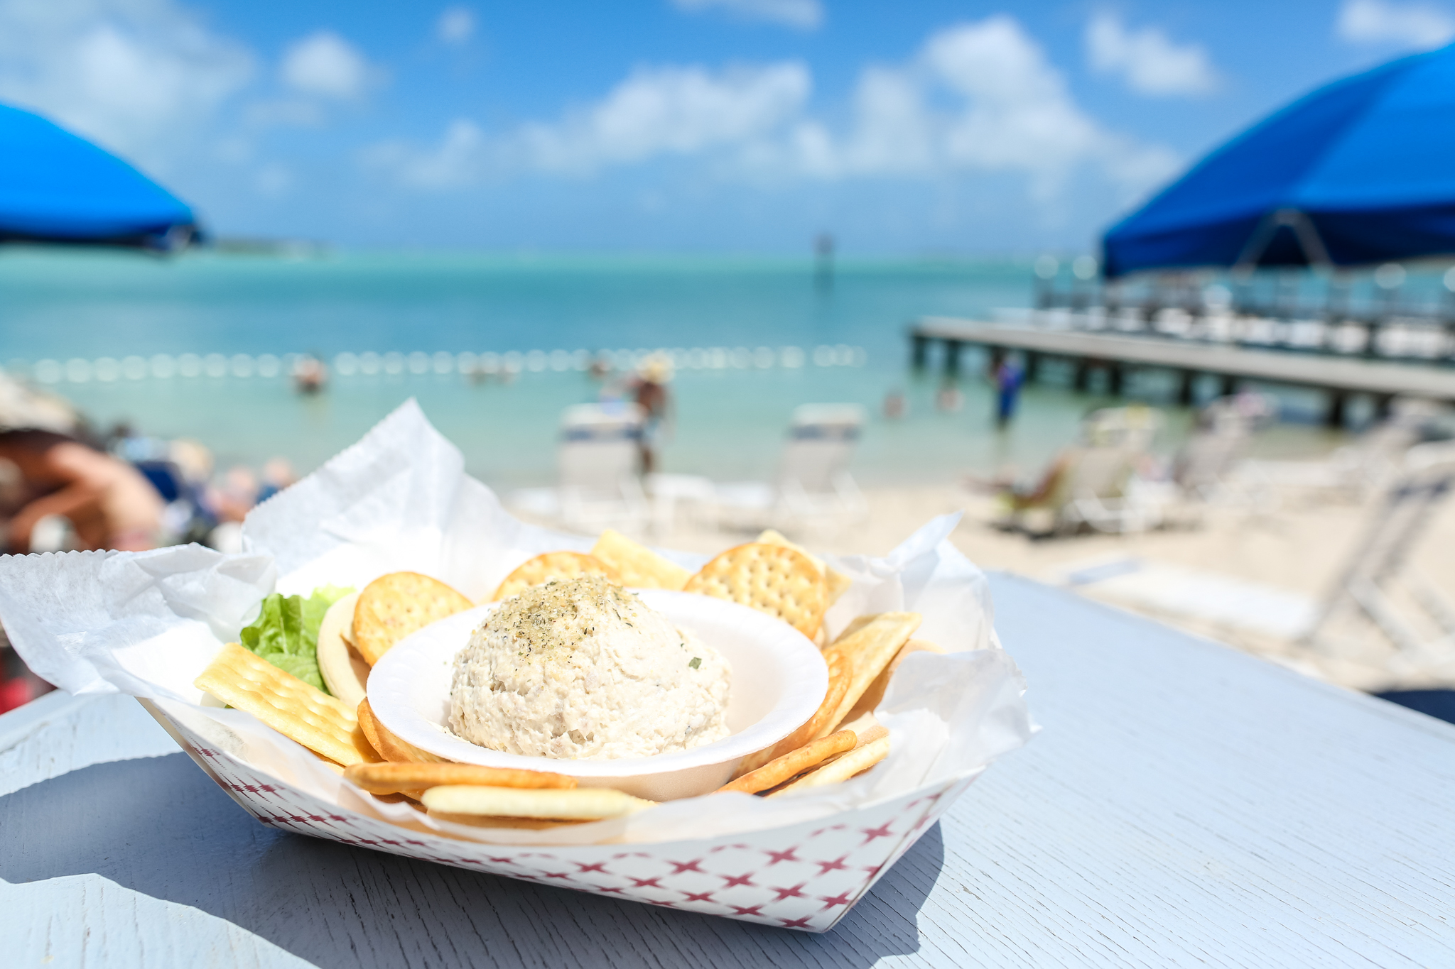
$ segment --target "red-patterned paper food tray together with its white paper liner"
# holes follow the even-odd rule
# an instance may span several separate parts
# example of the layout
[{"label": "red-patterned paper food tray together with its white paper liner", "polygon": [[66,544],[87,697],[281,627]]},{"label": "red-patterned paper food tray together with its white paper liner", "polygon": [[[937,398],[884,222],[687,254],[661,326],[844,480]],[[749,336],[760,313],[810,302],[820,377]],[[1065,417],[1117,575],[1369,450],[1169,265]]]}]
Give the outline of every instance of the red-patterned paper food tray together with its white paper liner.
[{"label": "red-patterned paper food tray together with its white paper liner", "polygon": [[[889,556],[829,556],[854,580],[826,617],[909,609],[918,638],[876,710],[890,755],[841,784],[783,798],[707,795],[544,831],[483,830],[384,803],[192,680],[271,591],[362,587],[426,572],[471,599],[538,552],[594,539],[527,526],[464,474],[413,401],[256,508],[243,555],[199,546],[0,558],[0,620],[26,662],[71,693],[143,700],[183,751],[262,824],[585,892],[826,931],[997,755],[1033,726],[1024,681],[991,628],[984,575],[936,519]],[[704,559],[672,554],[690,568]]]}]

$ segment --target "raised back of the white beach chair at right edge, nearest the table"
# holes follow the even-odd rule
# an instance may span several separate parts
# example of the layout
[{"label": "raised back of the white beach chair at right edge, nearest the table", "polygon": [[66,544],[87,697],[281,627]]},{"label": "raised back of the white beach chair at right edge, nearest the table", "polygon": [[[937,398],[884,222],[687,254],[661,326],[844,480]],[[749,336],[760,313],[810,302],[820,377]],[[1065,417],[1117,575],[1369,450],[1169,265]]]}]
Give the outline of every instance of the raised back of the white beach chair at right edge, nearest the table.
[{"label": "raised back of the white beach chair at right edge, nearest the table", "polygon": [[1411,447],[1302,636],[1307,645],[1324,652],[1347,649],[1344,628],[1350,619],[1365,619],[1394,646],[1395,671],[1455,670],[1455,603],[1410,564],[1430,519],[1452,491],[1455,443]]}]

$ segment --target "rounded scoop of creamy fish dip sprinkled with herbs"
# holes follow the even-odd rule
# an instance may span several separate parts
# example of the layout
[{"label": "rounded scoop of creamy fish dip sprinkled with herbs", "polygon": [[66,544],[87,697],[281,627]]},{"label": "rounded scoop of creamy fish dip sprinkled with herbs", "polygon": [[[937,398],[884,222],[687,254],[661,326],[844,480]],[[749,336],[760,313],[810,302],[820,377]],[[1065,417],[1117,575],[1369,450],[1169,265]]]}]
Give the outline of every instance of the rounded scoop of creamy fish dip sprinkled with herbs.
[{"label": "rounded scoop of creamy fish dip sprinkled with herbs", "polygon": [[614,760],[728,737],[716,649],[599,575],[508,599],[455,657],[450,729],[509,754]]}]

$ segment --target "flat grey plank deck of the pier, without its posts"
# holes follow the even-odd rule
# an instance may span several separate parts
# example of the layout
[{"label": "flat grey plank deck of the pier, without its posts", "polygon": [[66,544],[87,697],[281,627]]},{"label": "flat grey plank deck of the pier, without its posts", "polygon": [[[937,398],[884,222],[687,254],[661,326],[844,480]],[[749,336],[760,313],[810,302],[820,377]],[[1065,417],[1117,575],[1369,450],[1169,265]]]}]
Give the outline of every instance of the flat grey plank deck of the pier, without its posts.
[{"label": "flat grey plank deck of the pier, without its posts", "polygon": [[1403,394],[1455,401],[1455,369],[1314,353],[1251,350],[1176,338],[1032,330],[927,317],[912,336],[1090,360],[1197,370],[1232,378],[1359,394]]}]

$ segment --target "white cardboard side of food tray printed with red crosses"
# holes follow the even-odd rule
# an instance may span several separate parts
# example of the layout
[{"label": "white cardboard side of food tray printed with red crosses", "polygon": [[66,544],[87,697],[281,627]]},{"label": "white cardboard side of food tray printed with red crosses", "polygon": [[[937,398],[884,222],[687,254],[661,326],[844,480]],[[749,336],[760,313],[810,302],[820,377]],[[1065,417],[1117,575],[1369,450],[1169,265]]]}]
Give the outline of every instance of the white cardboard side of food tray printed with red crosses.
[{"label": "white cardboard side of food tray printed with red crosses", "polygon": [[701,841],[633,844],[627,850],[525,848],[412,831],[326,803],[260,776],[182,723],[172,723],[191,745],[194,760],[268,825],[538,885],[816,933],[832,928],[972,780],[847,811],[828,825],[815,821]]}]

